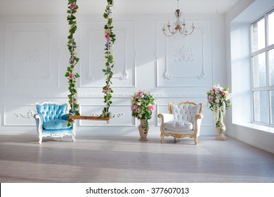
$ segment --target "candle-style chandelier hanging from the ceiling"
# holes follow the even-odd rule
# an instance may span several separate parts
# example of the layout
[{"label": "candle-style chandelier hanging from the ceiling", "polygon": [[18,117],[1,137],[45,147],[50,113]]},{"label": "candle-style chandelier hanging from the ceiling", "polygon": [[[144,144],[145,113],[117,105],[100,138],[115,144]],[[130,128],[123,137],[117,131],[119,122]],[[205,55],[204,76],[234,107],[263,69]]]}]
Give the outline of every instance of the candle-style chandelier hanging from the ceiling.
[{"label": "candle-style chandelier hanging from the ceiling", "polygon": [[183,18],[183,22],[180,20],[182,12],[179,10],[179,0],[177,0],[177,9],[174,12],[174,14],[176,17],[176,21],[174,22],[172,27],[170,25],[170,22],[167,25],[166,25],[166,23],[164,23],[164,27],[162,28],[164,34],[167,37],[174,36],[174,34],[176,34],[177,32],[179,34],[181,34],[182,37],[192,34],[194,31],[194,28],[195,28],[194,23],[191,26],[191,29],[192,29],[191,32],[188,32],[186,24],[185,24],[185,18]]}]

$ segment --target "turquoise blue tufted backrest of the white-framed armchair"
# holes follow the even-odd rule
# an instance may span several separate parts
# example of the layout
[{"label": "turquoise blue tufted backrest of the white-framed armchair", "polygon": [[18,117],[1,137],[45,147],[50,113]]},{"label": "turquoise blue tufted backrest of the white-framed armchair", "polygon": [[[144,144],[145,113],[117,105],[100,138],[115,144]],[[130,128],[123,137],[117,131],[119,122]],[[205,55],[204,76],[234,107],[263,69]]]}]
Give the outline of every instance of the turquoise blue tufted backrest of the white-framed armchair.
[{"label": "turquoise blue tufted backrest of the white-framed armchair", "polygon": [[37,113],[41,114],[43,122],[61,119],[61,117],[67,112],[66,103],[63,105],[58,105],[56,103],[42,103],[36,104],[35,108]]}]

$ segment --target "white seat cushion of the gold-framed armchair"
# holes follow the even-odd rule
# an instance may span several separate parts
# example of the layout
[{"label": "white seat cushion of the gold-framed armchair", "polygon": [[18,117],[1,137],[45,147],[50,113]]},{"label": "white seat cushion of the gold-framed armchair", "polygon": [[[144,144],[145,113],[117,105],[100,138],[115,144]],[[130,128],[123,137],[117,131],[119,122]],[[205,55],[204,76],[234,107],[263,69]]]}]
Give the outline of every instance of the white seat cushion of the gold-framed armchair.
[{"label": "white seat cushion of the gold-framed armchair", "polygon": [[164,123],[164,129],[176,132],[185,132],[193,129],[193,123],[183,120],[172,120]]}]

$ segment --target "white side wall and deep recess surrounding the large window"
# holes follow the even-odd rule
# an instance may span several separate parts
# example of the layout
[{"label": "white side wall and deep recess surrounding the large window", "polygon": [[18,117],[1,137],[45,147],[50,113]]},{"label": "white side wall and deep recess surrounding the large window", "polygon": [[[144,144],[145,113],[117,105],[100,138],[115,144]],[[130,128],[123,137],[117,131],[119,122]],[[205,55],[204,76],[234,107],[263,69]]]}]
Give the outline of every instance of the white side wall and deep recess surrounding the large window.
[{"label": "white side wall and deep recess surrounding the large window", "polygon": [[271,0],[240,1],[226,14],[228,83],[233,106],[227,114],[228,135],[274,153],[274,128],[252,124],[250,23],[274,6]]}]

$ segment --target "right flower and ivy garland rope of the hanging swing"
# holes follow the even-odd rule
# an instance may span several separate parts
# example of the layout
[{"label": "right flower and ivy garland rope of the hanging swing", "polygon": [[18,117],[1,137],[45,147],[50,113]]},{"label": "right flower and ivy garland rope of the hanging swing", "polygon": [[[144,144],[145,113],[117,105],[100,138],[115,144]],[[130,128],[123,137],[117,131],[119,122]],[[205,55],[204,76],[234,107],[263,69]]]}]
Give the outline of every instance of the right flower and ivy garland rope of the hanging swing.
[{"label": "right flower and ivy garland rope of the hanging swing", "polygon": [[113,7],[113,1],[114,0],[107,0],[107,6],[105,8],[105,13],[103,14],[103,17],[107,19],[107,23],[104,26],[105,29],[105,69],[103,69],[103,72],[106,75],[105,79],[105,86],[103,87],[103,93],[104,96],[104,103],[105,108],[103,108],[103,113],[100,115],[100,117],[110,117],[110,105],[112,104],[112,101],[110,100],[112,98],[113,90],[110,87],[112,84],[111,78],[113,75],[112,68],[115,65],[115,58],[113,55],[113,44],[115,43],[115,34],[113,33],[113,26],[112,26],[112,7]]}]

